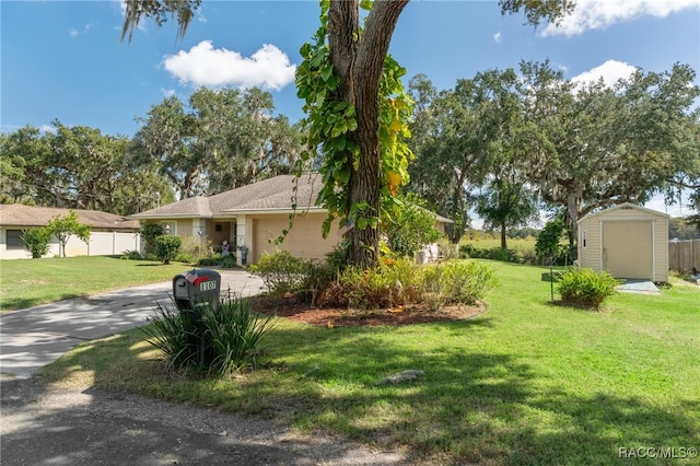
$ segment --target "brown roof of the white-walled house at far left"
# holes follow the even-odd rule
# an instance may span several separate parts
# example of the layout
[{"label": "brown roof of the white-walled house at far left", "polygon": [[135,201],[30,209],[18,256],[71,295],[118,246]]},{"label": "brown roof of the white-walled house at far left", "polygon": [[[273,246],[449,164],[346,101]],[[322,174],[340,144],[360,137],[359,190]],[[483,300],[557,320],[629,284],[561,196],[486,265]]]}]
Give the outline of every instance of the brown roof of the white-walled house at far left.
[{"label": "brown roof of the white-walled house at far left", "polygon": [[2,226],[46,226],[48,221],[57,215],[68,215],[73,210],[80,223],[93,229],[106,230],[138,230],[139,222],[114,213],[98,210],[59,209],[52,207],[24,206],[21,203],[0,205],[0,225]]}]

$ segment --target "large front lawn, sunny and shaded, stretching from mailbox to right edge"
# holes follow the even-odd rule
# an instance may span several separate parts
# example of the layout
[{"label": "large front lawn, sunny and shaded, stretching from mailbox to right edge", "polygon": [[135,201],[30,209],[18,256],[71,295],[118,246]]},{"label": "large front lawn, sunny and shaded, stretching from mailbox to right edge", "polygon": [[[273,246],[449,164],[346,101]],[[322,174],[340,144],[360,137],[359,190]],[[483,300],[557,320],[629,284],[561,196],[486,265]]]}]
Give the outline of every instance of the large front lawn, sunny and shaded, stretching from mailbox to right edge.
[{"label": "large front lawn, sunny and shaded, stretching from mailbox to right edge", "polygon": [[[697,287],[620,294],[588,312],[549,302],[547,269],[489,264],[500,284],[470,321],[326,328],[279,319],[261,368],[226,380],[164,375],[135,330],[82,345],[42,376],[404,447],[411,463],[696,464],[687,453],[626,459],[619,448],[700,446]],[[376,385],[408,369],[424,375]]]}]

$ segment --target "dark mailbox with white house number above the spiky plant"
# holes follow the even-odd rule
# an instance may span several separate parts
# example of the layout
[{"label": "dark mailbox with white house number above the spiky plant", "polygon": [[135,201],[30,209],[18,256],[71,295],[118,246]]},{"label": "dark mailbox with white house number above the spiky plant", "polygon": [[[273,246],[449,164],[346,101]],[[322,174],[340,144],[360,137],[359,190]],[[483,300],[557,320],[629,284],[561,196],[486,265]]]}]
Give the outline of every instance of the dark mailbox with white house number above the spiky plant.
[{"label": "dark mailbox with white house number above the spiky plant", "polygon": [[221,300],[221,275],[214,270],[192,269],[173,277],[175,305],[183,310],[197,311],[201,306],[219,308]]}]

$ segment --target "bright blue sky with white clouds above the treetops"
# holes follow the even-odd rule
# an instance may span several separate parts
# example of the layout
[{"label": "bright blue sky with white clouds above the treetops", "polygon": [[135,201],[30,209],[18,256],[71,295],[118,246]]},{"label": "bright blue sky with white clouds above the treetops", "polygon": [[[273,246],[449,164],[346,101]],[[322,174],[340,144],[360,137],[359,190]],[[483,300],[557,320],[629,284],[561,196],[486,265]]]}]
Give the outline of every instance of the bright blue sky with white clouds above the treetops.
[{"label": "bright blue sky with white clouds above the treetops", "polygon": [[[318,27],[317,1],[203,0],[185,37],[175,21],[142,22],[120,40],[124,5],[102,1],[0,1],[0,131],[58,119],[132,137],[138,117],[170,95],[199,86],[259,86],[277,112],[303,117],[294,70]],[[545,61],[567,79],[606,82],[634,69],[700,72],[700,0],[576,0],[558,27],[502,16],[495,0],[412,0],[389,53],[407,80],[424,73],[439,89],[489,69]],[[696,80],[700,85],[700,78]],[[648,207],[686,214],[662,199]]]}]

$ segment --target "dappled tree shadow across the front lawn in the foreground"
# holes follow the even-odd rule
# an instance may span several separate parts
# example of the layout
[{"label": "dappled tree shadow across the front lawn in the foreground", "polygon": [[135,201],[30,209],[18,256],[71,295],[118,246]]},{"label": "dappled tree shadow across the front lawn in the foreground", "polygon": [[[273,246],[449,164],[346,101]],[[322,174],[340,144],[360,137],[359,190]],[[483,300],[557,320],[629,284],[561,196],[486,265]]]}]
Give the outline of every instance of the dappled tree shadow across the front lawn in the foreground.
[{"label": "dappled tree shadow across the front lawn in the foreground", "polygon": [[[105,361],[91,368],[98,387],[139,387],[174,401],[281,418],[312,432],[341,432],[380,448],[404,446],[415,462],[611,464],[622,462],[620,447],[700,443],[699,401],[667,409],[619,393],[563,391],[523,357],[469,345],[472,333],[492,325],[481,316],[396,328],[278,326],[264,342],[262,369],[217,383],[159,374],[153,361],[142,360],[150,348],[136,345],[141,335],[129,333],[72,353],[51,378],[69,376],[88,357]],[[124,378],[115,380],[112,359],[131,368],[120,371]],[[424,375],[376,385],[407,369]]]}]

